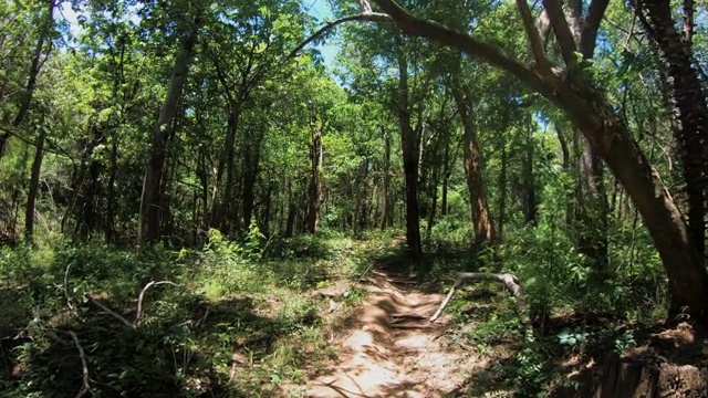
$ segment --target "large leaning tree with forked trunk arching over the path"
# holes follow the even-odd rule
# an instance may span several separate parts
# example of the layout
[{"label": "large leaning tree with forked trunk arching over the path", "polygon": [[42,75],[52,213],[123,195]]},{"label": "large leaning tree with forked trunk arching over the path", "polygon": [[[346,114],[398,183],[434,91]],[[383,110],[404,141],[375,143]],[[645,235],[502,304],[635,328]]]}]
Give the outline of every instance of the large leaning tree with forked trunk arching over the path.
[{"label": "large leaning tree with forked trunk arching over the path", "polygon": [[[669,279],[670,313],[677,314],[687,307],[696,318],[708,317],[708,273],[702,253],[689,238],[683,213],[659,175],[632,139],[605,93],[594,86],[587,73],[606,0],[594,0],[583,23],[566,17],[560,1],[543,1],[543,14],[553,28],[565,67],[552,67],[549,63],[525,1],[519,0],[517,4],[533,53],[531,66],[467,33],[414,17],[392,0],[375,2],[404,33],[427,38],[500,67],[563,109],[623,184],[643,216]],[[574,35],[580,35],[580,46]],[[580,59],[575,55],[579,51],[583,55]]]}]

